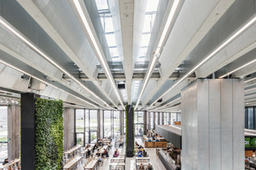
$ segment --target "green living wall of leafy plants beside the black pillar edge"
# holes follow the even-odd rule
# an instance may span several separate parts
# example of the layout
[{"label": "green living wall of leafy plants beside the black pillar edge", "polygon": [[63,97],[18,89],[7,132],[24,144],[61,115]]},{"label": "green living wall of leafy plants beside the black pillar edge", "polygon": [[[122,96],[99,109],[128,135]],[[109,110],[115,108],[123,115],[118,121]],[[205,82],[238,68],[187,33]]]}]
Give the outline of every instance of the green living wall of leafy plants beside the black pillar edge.
[{"label": "green living wall of leafy plants beside the black pillar edge", "polygon": [[61,170],[63,155],[63,102],[36,99],[36,169]]}]

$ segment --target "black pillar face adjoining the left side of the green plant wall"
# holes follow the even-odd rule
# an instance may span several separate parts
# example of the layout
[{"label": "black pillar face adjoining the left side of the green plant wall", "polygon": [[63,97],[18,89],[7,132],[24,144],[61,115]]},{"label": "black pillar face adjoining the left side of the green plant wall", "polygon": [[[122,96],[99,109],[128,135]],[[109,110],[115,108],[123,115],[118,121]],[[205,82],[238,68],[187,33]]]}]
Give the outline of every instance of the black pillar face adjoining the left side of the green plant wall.
[{"label": "black pillar face adjoining the left side of the green plant wall", "polygon": [[35,170],[35,94],[21,94],[21,167]]}]

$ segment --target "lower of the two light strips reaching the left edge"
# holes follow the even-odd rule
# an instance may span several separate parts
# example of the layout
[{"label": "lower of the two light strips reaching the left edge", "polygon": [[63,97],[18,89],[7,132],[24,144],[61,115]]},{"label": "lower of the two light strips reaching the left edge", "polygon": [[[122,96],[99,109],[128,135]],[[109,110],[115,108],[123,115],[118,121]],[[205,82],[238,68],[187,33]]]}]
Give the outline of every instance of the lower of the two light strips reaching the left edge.
[{"label": "lower of the two light strips reaching the left edge", "polygon": [[20,72],[22,72],[23,74],[26,74],[26,75],[29,76],[29,77],[32,77],[32,78],[34,78],[34,79],[37,79],[39,82],[44,82],[44,84],[47,84],[48,86],[51,86],[52,88],[59,89],[59,90],[61,90],[61,92],[64,92],[64,93],[66,93],[66,94],[68,94],[68,95],[71,95],[71,96],[73,96],[74,98],[83,101],[84,103],[87,103],[87,104],[89,104],[89,105],[92,105],[93,107],[96,107],[96,108],[98,107],[97,105],[94,105],[94,104],[92,104],[92,103],[90,103],[90,102],[88,102],[88,101],[86,101],[86,100],[84,100],[84,99],[81,99],[81,98],[79,98],[79,97],[76,96],[76,95],[70,94],[70,93],[64,91],[64,90],[61,89],[61,88],[55,87],[54,85],[50,84],[49,82],[45,82],[44,80],[42,80],[42,79],[40,79],[40,78],[38,78],[38,77],[34,77],[34,76],[32,76],[32,74],[30,74],[30,73],[28,73],[28,72],[26,72],[26,71],[22,71],[22,70],[20,70],[19,68],[15,67],[14,65],[10,65],[9,63],[3,61],[2,59],[0,59],[0,63],[2,63],[3,65],[7,65],[7,66],[9,66],[10,68],[15,69],[16,71],[20,71]]}]

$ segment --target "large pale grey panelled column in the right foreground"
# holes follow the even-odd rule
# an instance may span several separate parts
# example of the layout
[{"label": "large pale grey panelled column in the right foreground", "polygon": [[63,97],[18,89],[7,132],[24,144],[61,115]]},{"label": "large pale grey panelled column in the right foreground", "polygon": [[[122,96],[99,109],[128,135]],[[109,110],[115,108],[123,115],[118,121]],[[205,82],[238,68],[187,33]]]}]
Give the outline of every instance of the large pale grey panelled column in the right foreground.
[{"label": "large pale grey panelled column in the right foreground", "polygon": [[242,80],[197,80],[182,90],[184,170],[244,169]]}]

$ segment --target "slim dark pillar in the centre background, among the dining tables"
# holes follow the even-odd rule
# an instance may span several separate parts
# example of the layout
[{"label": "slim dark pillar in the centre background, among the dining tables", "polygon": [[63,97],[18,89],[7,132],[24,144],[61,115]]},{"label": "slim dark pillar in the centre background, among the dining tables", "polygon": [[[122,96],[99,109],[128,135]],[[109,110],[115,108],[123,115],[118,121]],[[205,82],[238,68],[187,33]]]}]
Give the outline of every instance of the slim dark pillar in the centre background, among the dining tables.
[{"label": "slim dark pillar in the centre background, among the dining tables", "polygon": [[126,113],[126,156],[132,157],[134,148],[134,111],[131,105],[126,106]]}]

